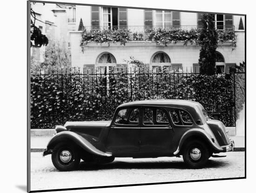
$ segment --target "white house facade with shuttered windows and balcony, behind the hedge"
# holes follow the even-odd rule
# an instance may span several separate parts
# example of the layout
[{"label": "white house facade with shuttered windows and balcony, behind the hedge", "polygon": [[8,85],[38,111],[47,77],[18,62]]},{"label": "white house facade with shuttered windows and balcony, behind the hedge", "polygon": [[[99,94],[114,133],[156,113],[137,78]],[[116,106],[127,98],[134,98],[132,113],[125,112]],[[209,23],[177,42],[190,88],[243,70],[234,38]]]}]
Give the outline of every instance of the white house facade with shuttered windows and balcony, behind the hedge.
[{"label": "white house facade with shuttered windows and balcony, behind the hedge", "polygon": [[[125,28],[132,33],[145,34],[145,29],[179,28],[190,30],[199,28],[201,13],[175,12],[167,10],[144,10],[119,7],[76,6],[76,29],[108,30]],[[231,30],[236,35],[236,48],[232,50],[231,40],[219,42],[217,48],[216,68],[218,73],[229,73],[230,67],[239,66],[245,60],[244,16],[215,14],[215,27],[219,31]],[[80,26],[80,27],[79,27]],[[156,45],[153,41],[128,41],[125,46],[117,43],[97,44],[89,42],[81,49],[82,31],[70,31],[71,60],[73,67],[109,67],[126,65],[124,60],[131,56],[149,64],[150,69],[157,66],[168,66],[188,72],[199,72],[200,46],[182,42],[176,44]]]}]

